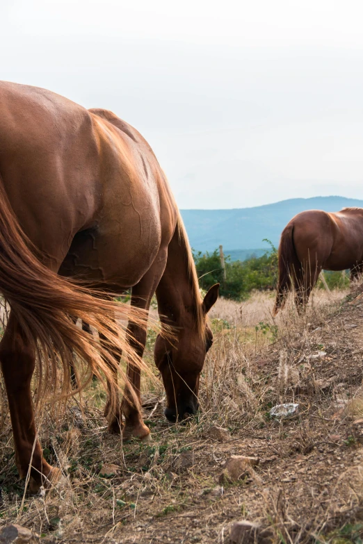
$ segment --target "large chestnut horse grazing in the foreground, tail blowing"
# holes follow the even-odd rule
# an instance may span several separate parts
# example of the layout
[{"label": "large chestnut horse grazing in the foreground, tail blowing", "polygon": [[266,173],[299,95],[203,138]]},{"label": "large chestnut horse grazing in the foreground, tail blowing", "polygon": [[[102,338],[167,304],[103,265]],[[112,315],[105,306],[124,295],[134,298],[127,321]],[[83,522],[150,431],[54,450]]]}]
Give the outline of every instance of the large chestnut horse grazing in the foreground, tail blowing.
[{"label": "large chestnut horse grazing in the foreground, tail blowing", "polygon": [[[113,316],[120,305],[111,301],[131,287],[127,338],[137,354],[119,335]],[[124,436],[150,434],[140,413],[138,357],[155,290],[164,327],[177,330],[176,340],[159,335],[155,345],[166,417],[175,421],[197,409],[200,371],[212,342],[206,315],[218,286],[201,299],[184,226],[159,163],[143,137],[113,113],[86,110],[43,89],[0,83],[0,292],[11,308],[0,362],[17,468],[21,477],[30,471],[33,491],[56,474],[35,431],[36,363],[40,396],[55,390],[60,363],[67,393],[75,352],[90,376],[108,381],[110,430],[123,425]],[[74,326],[78,318],[99,331],[101,343]],[[115,377],[122,351],[129,385],[119,407]]]}]

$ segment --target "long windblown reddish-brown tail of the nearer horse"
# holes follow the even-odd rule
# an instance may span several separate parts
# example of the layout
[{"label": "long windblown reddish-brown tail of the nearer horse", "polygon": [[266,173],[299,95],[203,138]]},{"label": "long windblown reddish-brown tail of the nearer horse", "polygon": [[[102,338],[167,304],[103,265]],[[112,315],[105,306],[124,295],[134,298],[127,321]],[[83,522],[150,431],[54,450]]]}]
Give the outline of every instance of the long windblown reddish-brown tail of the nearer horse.
[{"label": "long windblown reddish-brown tail of the nearer horse", "polygon": [[[44,258],[22,230],[0,176],[0,292],[10,306],[10,320],[21,332],[22,341],[35,353],[37,401],[45,398],[45,393],[54,398],[71,395],[96,374],[103,383],[109,382],[111,410],[115,411],[119,390],[115,376],[122,374],[115,353],[122,352],[131,364],[146,368],[115,315],[146,328],[147,313],[114,302],[111,295],[86,283],[59,276],[43,264]],[[106,340],[101,344],[76,327],[78,318]],[[75,391],[70,386],[73,353],[78,356],[77,379],[82,378],[77,380],[82,386]],[[122,377],[126,379],[124,374]]]}]

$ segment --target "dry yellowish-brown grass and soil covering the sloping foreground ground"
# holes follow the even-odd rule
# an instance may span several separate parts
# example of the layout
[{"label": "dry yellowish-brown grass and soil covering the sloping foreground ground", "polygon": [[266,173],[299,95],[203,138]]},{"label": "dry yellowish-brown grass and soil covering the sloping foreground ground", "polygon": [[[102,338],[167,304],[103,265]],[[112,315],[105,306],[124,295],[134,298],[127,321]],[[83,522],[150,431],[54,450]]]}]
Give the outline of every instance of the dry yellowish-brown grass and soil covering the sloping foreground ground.
[{"label": "dry yellowish-brown grass and soil covering the sloping foreground ground", "polygon": [[[49,406],[42,445],[66,482],[45,497],[26,497],[22,511],[24,484],[4,409],[0,524],[17,520],[45,543],[227,544],[229,523],[246,518],[270,527],[276,544],[359,544],[363,303],[349,305],[347,294],[318,291],[305,315],[290,302],[276,320],[273,293],[242,304],[218,301],[200,415],[168,424],[161,385],[144,380],[151,444],[122,444],[106,434],[97,383],[85,394],[83,415],[77,399],[65,415]],[[270,409],[283,402],[299,404],[298,413],[274,420]],[[211,425],[229,429],[231,438],[211,440]],[[231,454],[261,461],[249,477],[221,488],[222,463]],[[106,463],[117,465],[106,467],[115,475],[99,475]]]}]

